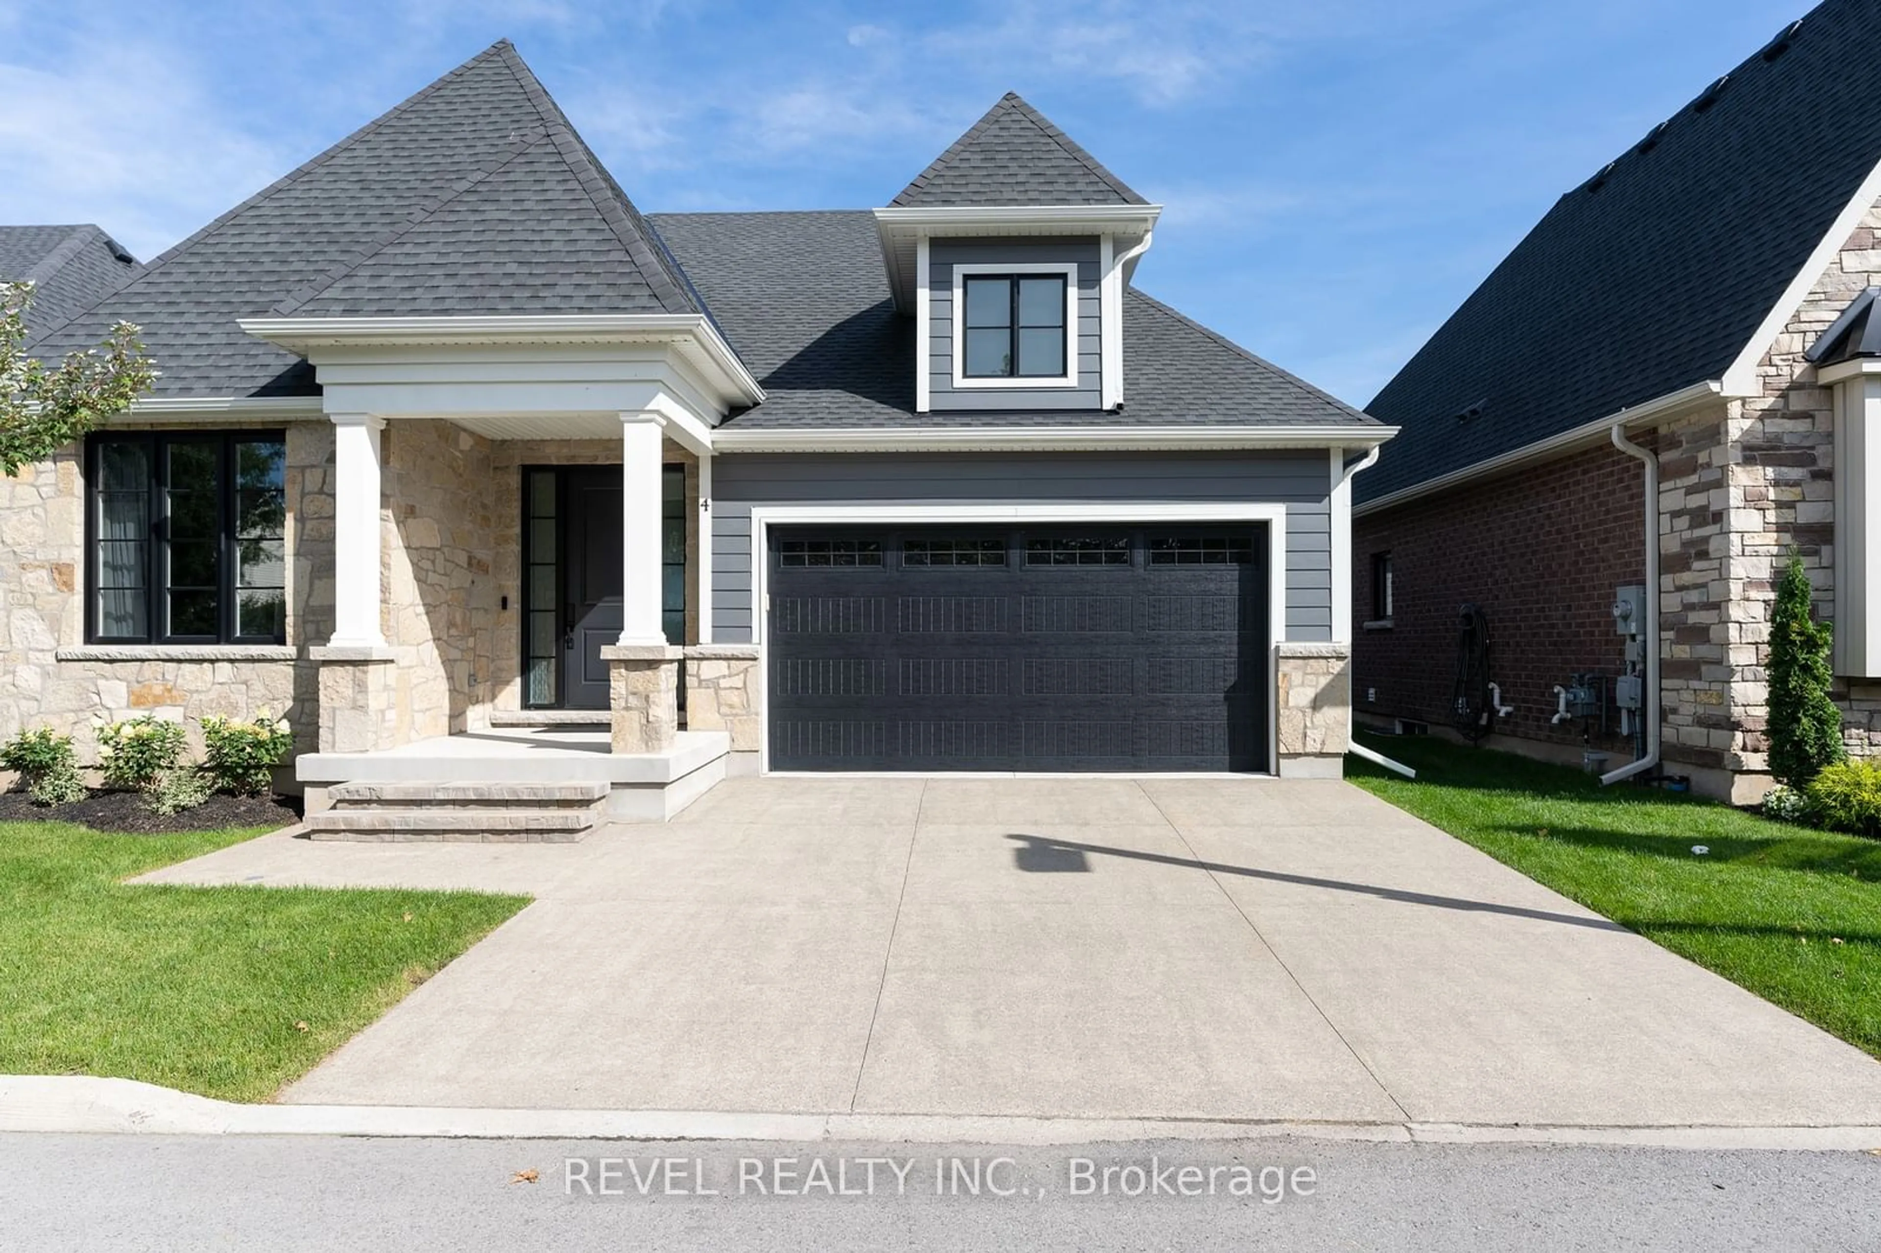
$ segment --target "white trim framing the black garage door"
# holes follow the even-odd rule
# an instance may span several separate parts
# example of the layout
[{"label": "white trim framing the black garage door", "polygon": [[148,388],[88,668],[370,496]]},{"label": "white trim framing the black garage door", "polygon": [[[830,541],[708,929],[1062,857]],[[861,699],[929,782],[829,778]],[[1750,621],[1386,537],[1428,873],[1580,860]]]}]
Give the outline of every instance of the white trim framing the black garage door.
[{"label": "white trim framing the black garage door", "polygon": [[[925,523],[1266,523],[1268,525],[1268,773],[1281,771],[1275,653],[1287,630],[1287,506],[1243,502],[1142,504],[754,504],[751,506],[751,642],[764,645],[771,600],[769,529],[798,525],[925,525]],[[1337,578],[1337,570],[1334,572]],[[758,662],[758,769],[771,773],[769,666]]]}]

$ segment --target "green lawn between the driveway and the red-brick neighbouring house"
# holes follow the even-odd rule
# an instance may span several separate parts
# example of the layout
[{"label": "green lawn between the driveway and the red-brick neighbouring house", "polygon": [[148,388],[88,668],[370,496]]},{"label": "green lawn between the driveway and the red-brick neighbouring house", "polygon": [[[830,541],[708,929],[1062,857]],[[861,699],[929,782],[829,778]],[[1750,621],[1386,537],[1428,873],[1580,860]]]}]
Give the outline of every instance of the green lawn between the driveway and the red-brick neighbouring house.
[{"label": "green lawn between the driveway and the red-brick neighbouring house", "polygon": [[1358,786],[1881,1057],[1881,843],[1443,739],[1364,741],[1418,777],[1347,758]]}]

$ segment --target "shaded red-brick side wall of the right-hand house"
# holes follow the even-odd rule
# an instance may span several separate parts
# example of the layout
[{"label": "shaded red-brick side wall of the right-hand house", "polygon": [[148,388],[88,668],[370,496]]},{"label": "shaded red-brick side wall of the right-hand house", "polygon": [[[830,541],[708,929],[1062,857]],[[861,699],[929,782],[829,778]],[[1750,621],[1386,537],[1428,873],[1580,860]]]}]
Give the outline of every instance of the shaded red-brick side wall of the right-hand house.
[{"label": "shaded red-brick side wall of the right-hand house", "polygon": [[[1490,623],[1490,677],[1516,707],[1497,732],[1578,745],[1578,722],[1548,721],[1552,689],[1625,662],[1612,602],[1618,587],[1644,581],[1640,474],[1638,461],[1601,446],[1354,519],[1352,711],[1448,724],[1458,610],[1475,602]],[[1379,551],[1392,553],[1392,626],[1367,630]],[[1616,764],[1629,754],[1618,734],[1597,747]]]}]

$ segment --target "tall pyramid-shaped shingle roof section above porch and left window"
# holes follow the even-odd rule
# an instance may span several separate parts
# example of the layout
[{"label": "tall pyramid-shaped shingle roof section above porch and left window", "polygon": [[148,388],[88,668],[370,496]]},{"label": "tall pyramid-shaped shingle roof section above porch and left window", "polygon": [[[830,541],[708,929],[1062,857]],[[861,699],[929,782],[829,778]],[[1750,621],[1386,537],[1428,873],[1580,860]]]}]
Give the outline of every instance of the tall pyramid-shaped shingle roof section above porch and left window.
[{"label": "tall pyramid-shaped shingle roof section above porch and left window", "polygon": [[150,262],[32,344],[143,327],[158,395],[301,395],[237,318],[700,312],[640,213],[508,41]]}]

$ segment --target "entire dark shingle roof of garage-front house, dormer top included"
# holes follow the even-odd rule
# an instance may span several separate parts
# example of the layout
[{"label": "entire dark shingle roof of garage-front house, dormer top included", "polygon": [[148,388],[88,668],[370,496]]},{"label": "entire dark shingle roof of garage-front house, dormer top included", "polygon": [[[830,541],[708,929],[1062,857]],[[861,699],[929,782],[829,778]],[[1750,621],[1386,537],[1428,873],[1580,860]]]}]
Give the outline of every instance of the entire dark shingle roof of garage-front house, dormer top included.
[{"label": "entire dark shingle roof of garage-front house, dormer top included", "polygon": [[[1029,171],[1042,199],[1004,182]],[[1016,96],[929,175],[929,190],[971,181],[999,203],[1140,203]],[[32,350],[85,348],[128,320],[162,369],[158,395],[312,395],[312,369],[239,318],[705,312],[769,393],[735,418],[743,427],[1369,421],[1134,290],[1125,412],[918,416],[914,324],[890,299],[871,213],[651,222],[504,41],[40,331]]]}]

